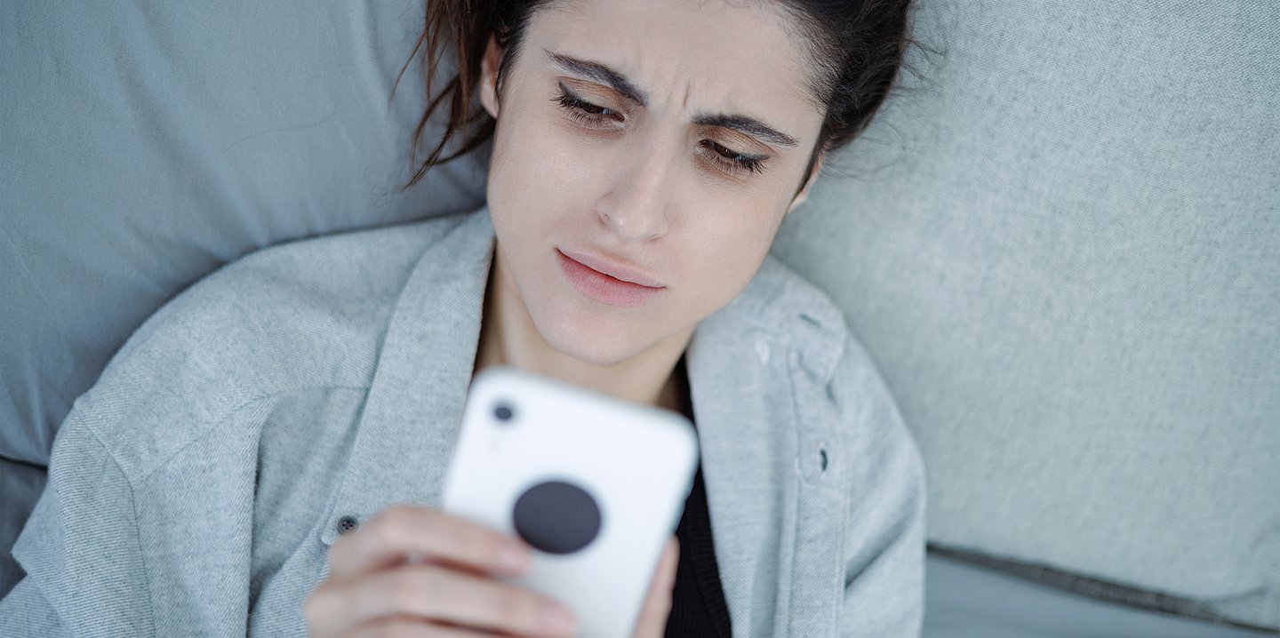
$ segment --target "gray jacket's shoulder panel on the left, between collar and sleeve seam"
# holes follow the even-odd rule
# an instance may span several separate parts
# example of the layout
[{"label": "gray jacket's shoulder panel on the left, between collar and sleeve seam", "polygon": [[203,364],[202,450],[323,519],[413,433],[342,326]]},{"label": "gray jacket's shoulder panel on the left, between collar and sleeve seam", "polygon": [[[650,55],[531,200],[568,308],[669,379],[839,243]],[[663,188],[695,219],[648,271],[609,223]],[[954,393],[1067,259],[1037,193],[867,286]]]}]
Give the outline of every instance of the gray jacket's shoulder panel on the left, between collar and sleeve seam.
[{"label": "gray jacket's shoulder panel on the left, between collar and sleeve seam", "polygon": [[228,263],[128,339],[68,426],[145,471],[264,398],[367,386],[410,274],[466,219],[301,239]]}]

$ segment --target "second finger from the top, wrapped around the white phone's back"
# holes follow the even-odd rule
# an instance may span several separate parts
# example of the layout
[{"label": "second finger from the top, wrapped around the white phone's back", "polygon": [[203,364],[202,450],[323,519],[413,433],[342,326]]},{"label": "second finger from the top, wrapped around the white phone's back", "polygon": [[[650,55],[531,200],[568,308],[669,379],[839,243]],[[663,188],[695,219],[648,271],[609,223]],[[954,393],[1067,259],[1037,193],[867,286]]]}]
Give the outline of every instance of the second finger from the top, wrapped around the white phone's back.
[{"label": "second finger from the top, wrapped around the white phone's back", "polygon": [[[572,612],[556,601],[438,565],[402,565],[326,580],[311,592],[305,612],[312,626],[325,628],[329,635],[407,619],[517,635],[562,637],[571,635],[573,629]],[[563,620],[557,621],[557,615]]]}]

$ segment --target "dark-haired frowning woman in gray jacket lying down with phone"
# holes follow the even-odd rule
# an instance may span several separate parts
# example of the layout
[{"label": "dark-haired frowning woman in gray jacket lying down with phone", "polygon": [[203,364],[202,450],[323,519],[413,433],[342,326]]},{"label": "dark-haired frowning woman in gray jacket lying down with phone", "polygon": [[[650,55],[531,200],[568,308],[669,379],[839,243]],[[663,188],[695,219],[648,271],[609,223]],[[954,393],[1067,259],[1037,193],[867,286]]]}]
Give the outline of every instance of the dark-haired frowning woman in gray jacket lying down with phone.
[{"label": "dark-haired frowning woman in gray jacket lying down with phone", "polygon": [[901,60],[905,1],[827,5],[428,6],[460,77],[422,170],[474,87],[488,206],[261,251],[157,312],[59,432],[6,626],[572,635],[497,578],[527,547],[435,509],[467,385],[507,364],[698,426],[635,635],[918,633],[919,456],[840,313],[767,257]]}]

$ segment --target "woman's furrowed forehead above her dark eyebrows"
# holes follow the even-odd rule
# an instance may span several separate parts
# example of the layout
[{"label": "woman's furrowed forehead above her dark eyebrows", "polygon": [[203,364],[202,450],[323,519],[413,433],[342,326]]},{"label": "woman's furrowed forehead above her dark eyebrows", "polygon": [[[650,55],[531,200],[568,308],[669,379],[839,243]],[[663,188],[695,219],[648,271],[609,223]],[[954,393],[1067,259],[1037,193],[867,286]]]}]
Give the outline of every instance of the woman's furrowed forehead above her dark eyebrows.
[{"label": "woman's furrowed forehead above her dark eyebrows", "polygon": [[596,63],[652,109],[750,110],[795,127],[822,116],[796,113],[814,110],[797,37],[774,3],[575,0],[531,17],[521,56],[556,72],[563,58]]}]

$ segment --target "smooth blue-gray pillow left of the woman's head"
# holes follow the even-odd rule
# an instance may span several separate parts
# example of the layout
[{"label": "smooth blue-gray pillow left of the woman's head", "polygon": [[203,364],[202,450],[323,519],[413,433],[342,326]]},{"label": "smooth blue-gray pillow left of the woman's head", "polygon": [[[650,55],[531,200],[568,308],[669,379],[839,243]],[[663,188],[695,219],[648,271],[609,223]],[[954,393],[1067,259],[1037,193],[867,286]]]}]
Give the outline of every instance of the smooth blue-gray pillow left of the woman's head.
[{"label": "smooth blue-gray pillow left of the woman's head", "polygon": [[421,0],[0,4],[0,456],[47,463],[106,359],[216,266],[484,201],[476,157],[396,189],[421,22]]}]

